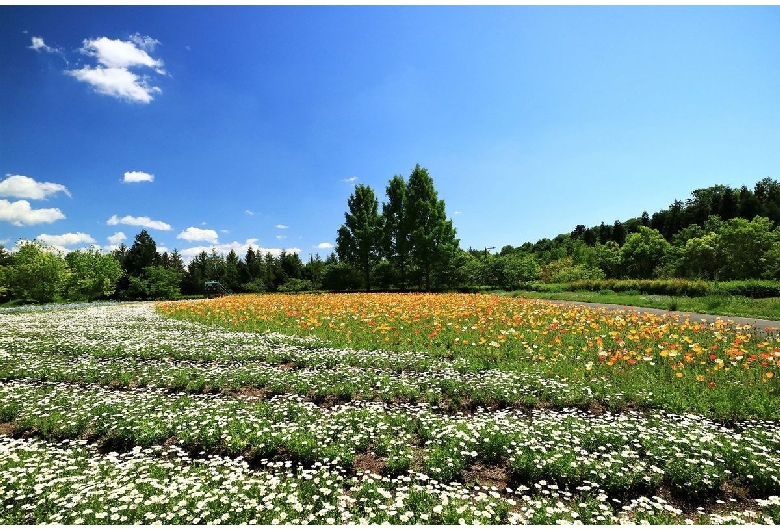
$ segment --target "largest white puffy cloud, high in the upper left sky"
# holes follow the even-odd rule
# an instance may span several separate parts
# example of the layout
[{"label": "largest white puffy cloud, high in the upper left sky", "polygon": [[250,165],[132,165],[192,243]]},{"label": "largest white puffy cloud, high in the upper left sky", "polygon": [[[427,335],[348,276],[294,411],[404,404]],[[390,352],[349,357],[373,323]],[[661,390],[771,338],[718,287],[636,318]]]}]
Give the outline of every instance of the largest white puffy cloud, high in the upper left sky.
[{"label": "largest white puffy cloud, high in the upper left sky", "polygon": [[138,34],[130,40],[100,37],[88,39],[79,50],[83,55],[94,57],[97,66],[86,65],[78,70],[66,72],[77,80],[91,85],[96,92],[118,99],[137,103],[149,103],[162,89],[151,84],[151,77],[130,71],[131,68],[148,68],[165,75],[163,62],[149,55],[159,41]]}]

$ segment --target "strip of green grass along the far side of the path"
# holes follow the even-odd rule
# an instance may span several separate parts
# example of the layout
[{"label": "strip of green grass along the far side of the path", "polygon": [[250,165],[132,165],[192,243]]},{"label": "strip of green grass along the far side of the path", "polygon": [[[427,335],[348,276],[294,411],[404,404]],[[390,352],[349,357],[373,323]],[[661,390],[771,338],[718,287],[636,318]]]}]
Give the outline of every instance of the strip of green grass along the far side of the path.
[{"label": "strip of green grass along the far side of the path", "polygon": [[780,320],[780,298],[748,298],[746,296],[706,295],[699,297],[615,293],[608,291],[513,291],[512,296],[542,300],[573,300],[636,307],[651,307],[667,311],[684,311],[709,315],[736,316]]}]

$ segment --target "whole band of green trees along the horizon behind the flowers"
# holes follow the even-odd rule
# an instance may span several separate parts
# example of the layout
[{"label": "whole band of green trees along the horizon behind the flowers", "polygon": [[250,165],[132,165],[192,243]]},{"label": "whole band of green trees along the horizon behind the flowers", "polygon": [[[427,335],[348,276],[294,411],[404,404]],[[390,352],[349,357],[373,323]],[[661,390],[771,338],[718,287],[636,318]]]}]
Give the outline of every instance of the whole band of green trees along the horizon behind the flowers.
[{"label": "whole band of green trees along the horizon behind the flowers", "polygon": [[37,241],[14,252],[0,246],[0,303],[199,296],[206,281],[259,293],[516,289],[603,278],[780,280],[780,184],[769,178],[753,190],[695,190],[652,215],[577,225],[497,253],[460,248],[444,201],[419,164],[408,179],[390,179],[381,208],[370,186],[357,185],[344,219],[335,252],[306,262],[296,253],[249,247],[243,256],[212,248],[185,265],[177,250],[158,252],[146,230],[108,254],[94,247],[63,254]]}]

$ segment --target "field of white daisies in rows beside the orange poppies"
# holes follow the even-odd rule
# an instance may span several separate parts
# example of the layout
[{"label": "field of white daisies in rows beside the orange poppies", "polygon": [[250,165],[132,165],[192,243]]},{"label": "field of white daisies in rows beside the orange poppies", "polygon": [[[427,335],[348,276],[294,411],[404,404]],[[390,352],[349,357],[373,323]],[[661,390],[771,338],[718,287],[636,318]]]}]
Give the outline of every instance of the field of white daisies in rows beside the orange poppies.
[{"label": "field of white daisies in rows beside the orange poppies", "polygon": [[567,406],[592,391],[149,303],[4,311],[0,523],[780,524],[777,420]]}]

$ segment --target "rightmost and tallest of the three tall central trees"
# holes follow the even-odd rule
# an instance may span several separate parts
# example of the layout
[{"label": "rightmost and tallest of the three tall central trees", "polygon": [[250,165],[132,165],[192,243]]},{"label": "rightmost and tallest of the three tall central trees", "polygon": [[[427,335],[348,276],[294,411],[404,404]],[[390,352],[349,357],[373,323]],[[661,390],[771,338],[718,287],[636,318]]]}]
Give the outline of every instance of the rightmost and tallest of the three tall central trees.
[{"label": "rightmost and tallest of the three tall central trees", "polygon": [[409,176],[407,214],[410,255],[422,273],[425,289],[430,290],[432,274],[443,272],[458,248],[458,240],[444,211],[444,201],[438,199],[433,179],[420,164]]}]

